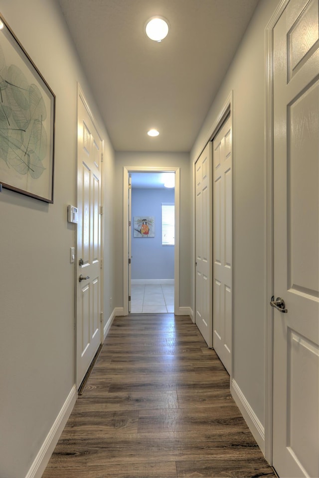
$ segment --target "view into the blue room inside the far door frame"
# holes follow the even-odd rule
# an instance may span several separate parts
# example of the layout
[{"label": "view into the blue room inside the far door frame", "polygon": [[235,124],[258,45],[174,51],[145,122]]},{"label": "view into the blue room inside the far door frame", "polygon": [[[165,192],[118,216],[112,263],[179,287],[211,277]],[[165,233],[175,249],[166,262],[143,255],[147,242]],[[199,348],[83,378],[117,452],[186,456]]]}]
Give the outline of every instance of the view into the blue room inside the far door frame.
[{"label": "view into the blue room inside the far door frame", "polygon": [[174,312],[174,190],[173,172],[131,173],[132,314]]}]

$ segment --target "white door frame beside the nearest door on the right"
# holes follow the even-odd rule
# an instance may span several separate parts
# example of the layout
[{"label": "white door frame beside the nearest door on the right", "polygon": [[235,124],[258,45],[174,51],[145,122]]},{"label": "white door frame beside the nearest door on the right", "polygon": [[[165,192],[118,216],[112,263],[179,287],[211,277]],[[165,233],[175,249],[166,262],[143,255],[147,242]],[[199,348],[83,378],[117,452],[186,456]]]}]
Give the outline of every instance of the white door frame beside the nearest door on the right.
[{"label": "white door frame beside the nearest door on the right", "polygon": [[273,308],[270,306],[274,295],[274,122],[273,122],[273,30],[289,0],[282,0],[266,26],[266,324],[265,324],[265,458],[273,463]]}]

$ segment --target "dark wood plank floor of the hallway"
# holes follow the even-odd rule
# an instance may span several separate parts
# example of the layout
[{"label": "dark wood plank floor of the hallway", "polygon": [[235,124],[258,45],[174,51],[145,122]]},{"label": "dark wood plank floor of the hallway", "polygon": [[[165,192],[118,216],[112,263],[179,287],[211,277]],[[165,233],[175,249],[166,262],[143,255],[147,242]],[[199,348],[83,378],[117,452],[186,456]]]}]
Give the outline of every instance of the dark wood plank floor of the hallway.
[{"label": "dark wood plank floor of the hallway", "polygon": [[115,318],[42,478],[275,477],[189,317]]}]

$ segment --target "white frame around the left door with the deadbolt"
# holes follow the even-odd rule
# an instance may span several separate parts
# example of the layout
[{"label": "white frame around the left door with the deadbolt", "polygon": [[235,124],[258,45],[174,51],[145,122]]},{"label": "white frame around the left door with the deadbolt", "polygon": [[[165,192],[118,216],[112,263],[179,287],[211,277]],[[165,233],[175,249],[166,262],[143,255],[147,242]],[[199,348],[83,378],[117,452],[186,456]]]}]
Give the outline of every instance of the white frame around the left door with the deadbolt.
[{"label": "white frame around the left door with the deadbolt", "polygon": [[[87,110],[88,112],[88,115],[90,116],[96,130],[98,131],[99,133],[99,127],[98,127],[98,124],[96,122],[96,120],[94,119],[94,116],[92,114],[92,111],[89,107],[89,104],[84,96],[84,93],[83,93],[83,90],[80,86],[80,84],[78,83],[77,84],[77,121],[78,121],[78,102],[79,101],[82,101],[84,106],[85,106],[85,109]],[[100,134],[100,133],[99,133]],[[101,137],[101,136],[100,136]],[[77,131],[77,136],[76,136],[76,188],[75,188],[75,191],[76,191],[76,202],[78,203],[78,131]],[[103,341],[104,341],[104,314],[103,314],[103,310],[104,310],[104,294],[103,294],[103,290],[104,290],[104,216],[103,216],[103,205],[104,205],[104,163],[103,163],[103,156],[104,156],[104,139],[102,139],[101,137],[101,141],[102,141],[102,159],[101,159],[101,204],[102,204],[102,210],[100,211],[100,228],[101,228],[101,231],[100,231],[100,235],[101,235],[101,274],[100,274],[100,284],[101,284],[101,289],[100,289],[100,307],[101,307],[101,320],[100,320],[100,340],[101,340],[101,344],[103,344]],[[76,247],[75,247],[75,250],[77,251],[77,244],[78,244],[78,229],[76,228],[76,233],[75,233],[75,244],[76,244]],[[75,254],[75,267],[74,267],[74,314],[75,314],[75,326],[74,326],[74,330],[75,330],[75,383],[78,383],[78,363],[77,363],[77,323],[78,323],[78,310],[77,310],[77,305],[78,305],[78,260],[79,258],[77,257],[77,253]]]}]

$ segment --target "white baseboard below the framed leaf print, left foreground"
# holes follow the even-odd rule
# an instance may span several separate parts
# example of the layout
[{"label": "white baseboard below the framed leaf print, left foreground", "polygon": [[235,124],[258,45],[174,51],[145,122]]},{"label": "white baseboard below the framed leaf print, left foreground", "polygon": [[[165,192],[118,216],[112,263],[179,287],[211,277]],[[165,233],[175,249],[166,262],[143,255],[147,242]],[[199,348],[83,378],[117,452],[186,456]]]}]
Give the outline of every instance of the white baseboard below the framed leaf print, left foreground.
[{"label": "white baseboard below the framed leaf print, left foreground", "polygon": [[76,386],[65,400],[25,478],[41,478],[76,402]]}]

